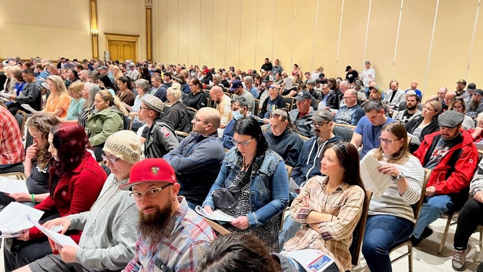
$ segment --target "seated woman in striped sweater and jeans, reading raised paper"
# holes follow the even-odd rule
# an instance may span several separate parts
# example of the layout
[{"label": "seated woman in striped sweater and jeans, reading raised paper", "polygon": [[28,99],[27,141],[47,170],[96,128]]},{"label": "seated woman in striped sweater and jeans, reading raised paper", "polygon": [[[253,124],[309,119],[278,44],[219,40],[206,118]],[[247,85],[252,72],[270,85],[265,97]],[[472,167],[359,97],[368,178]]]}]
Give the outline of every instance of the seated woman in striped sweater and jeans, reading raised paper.
[{"label": "seated woman in striped sweater and jeans, reading raised paper", "polygon": [[421,197],[425,172],[419,160],[409,153],[403,124],[386,124],[379,141],[379,148],[366,156],[381,162],[378,171],[391,176],[392,183],[380,198],[371,199],[362,252],[372,272],[388,272],[392,271],[390,249],[413,232],[416,219],[411,205]]}]

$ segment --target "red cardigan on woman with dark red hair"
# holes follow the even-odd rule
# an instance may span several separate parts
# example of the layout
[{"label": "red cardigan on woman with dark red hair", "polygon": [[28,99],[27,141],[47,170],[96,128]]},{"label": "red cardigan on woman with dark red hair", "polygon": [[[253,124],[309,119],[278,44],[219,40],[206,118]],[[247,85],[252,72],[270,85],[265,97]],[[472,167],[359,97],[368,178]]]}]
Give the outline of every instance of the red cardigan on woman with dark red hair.
[{"label": "red cardigan on woman with dark red hair", "polygon": [[[35,206],[43,211],[58,210],[61,217],[88,211],[94,204],[102,186],[106,181],[106,172],[99,166],[96,159],[85,152],[84,159],[71,171],[70,177],[61,177],[54,190],[53,198],[47,197]],[[55,175],[57,167],[50,167],[50,182]],[[67,235],[79,243],[82,231],[68,231]],[[28,230],[31,239],[44,236],[36,227]]]}]

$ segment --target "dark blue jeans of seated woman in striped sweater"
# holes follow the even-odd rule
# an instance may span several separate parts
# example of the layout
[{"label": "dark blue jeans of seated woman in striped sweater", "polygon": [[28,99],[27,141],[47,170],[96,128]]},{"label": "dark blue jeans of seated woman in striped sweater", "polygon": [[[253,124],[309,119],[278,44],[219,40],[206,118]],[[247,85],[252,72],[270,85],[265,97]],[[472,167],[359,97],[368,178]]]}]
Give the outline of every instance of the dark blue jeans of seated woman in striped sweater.
[{"label": "dark blue jeans of seated woman in striped sweater", "polygon": [[394,245],[408,239],[413,229],[414,223],[401,217],[368,217],[362,252],[369,269],[372,272],[392,271],[389,252]]}]

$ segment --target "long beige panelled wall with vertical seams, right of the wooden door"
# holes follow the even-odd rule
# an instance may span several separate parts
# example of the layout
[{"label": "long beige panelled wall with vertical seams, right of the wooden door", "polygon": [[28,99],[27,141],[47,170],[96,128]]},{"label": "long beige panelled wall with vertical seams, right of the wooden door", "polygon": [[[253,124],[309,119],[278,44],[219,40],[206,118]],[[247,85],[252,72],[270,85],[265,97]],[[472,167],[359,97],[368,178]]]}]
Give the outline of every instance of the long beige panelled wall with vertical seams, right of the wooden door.
[{"label": "long beige panelled wall with vertical seams, right of the wooden door", "polygon": [[383,88],[391,78],[404,89],[417,80],[428,97],[440,86],[454,90],[460,78],[483,85],[482,12],[471,46],[477,7],[478,0],[154,0],[153,57],[242,70],[279,58],[287,70],[323,66],[330,77],[345,77],[347,65],[360,73],[369,60]]}]

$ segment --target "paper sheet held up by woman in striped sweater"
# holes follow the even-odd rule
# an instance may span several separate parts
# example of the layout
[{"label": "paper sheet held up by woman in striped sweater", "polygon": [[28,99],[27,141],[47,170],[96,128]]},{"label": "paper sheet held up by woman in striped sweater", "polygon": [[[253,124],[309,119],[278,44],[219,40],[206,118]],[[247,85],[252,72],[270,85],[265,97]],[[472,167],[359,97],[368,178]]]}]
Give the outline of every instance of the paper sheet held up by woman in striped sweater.
[{"label": "paper sheet held up by woman in striped sweater", "polygon": [[381,162],[371,155],[365,156],[360,161],[360,177],[363,180],[366,190],[371,191],[375,198],[382,194],[393,184],[393,177],[380,173],[377,168],[382,166]]}]

